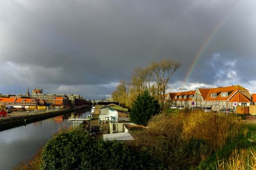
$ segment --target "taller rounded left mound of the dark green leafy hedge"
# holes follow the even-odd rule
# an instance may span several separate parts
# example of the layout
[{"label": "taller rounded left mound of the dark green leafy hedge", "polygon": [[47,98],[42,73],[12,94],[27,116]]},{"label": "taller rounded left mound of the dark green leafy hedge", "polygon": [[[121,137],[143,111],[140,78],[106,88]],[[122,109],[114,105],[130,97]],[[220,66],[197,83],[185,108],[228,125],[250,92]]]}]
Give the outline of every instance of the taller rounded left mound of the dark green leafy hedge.
[{"label": "taller rounded left mound of the dark green leafy hedge", "polygon": [[79,128],[59,133],[43,148],[43,169],[74,169],[83,160],[81,152],[89,142],[89,134]]}]

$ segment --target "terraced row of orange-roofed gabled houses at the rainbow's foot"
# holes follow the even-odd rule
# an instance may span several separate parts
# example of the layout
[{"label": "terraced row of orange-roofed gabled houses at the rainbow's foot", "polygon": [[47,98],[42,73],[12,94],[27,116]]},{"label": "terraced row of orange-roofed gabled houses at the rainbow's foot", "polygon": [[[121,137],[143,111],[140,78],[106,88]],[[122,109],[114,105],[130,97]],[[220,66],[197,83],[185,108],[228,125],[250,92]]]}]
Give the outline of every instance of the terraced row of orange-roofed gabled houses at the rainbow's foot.
[{"label": "terraced row of orange-roofed gabled houses at the rainbow's foot", "polygon": [[190,108],[211,107],[213,111],[222,108],[236,106],[249,106],[252,102],[252,94],[246,88],[239,85],[217,88],[199,88],[195,91],[169,93],[171,104]]}]

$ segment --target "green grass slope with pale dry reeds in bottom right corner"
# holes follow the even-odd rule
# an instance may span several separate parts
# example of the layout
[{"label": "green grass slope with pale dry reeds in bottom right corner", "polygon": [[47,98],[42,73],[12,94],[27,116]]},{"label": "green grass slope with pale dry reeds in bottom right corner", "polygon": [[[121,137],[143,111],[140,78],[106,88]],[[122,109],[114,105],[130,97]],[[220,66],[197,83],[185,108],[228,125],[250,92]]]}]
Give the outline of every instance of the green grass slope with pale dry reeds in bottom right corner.
[{"label": "green grass slope with pale dry reeds in bottom right corner", "polygon": [[[246,167],[253,167],[255,166],[255,141],[256,125],[243,124],[243,126],[239,129],[239,133],[235,139],[228,140],[225,146],[216,151],[208,159],[201,162],[197,169],[233,169],[235,168],[235,165],[238,167],[241,167],[241,165]],[[244,153],[248,153],[248,155]],[[250,161],[247,161],[249,158]],[[252,165],[252,163],[249,165],[249,162],[253,161],[254,165]],[[231,168],[231,165],[234,166]],[[244,169],[247,169],[246,167],[244,167]]]}]

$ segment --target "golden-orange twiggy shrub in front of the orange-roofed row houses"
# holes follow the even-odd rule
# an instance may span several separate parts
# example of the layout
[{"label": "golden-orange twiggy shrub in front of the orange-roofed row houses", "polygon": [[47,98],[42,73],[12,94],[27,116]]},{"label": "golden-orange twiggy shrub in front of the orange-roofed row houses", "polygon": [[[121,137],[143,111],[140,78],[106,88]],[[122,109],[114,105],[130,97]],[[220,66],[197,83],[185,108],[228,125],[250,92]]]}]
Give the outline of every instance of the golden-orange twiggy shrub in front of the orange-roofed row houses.
[{"label": "golden-orange twiggy shrub in front of the orange-roofed row houses", "polygon": [[183,138],[205,139],[216,151],[236,137],[241,124],[235,116],[193,112],[183,120]]}]

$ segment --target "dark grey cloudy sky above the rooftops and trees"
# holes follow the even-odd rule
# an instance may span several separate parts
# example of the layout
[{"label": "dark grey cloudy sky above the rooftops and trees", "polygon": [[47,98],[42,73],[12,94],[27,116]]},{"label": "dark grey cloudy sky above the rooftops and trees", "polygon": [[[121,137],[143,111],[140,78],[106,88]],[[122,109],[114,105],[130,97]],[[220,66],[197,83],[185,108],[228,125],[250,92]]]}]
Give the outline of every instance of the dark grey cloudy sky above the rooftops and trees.
[{"label": "dark grey cloudy sky above the rooftops and trees", "polygon": [[255,0],[1,0],[0,93],[29,86],[102,99],[135,68],[164,58],[181,62],[168,92],[241,85],[256,93],[255,7]]}]

